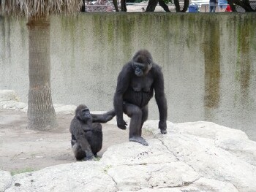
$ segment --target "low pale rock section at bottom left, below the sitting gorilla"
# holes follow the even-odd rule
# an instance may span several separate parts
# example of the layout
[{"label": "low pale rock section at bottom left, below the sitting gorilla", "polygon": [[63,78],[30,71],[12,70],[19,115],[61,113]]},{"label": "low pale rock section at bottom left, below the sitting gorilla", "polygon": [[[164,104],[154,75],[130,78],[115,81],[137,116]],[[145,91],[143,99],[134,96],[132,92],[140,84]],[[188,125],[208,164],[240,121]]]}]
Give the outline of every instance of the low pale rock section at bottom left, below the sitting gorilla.
[{"label": "low pale rock section at bottom left, below the sitting gorilla", "polygon": [[50,166],[37,172],[16,174],[6,191],[117,191],[116,183],[100,162]]}]

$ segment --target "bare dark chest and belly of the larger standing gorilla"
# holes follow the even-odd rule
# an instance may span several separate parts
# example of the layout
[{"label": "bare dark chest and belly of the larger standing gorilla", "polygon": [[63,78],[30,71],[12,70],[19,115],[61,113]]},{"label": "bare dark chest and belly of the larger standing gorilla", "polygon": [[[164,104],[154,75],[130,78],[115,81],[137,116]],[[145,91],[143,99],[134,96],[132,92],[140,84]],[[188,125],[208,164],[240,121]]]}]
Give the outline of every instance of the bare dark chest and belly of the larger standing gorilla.
[{"label": "bare dark chest and belly of the larger standing gorilla", "polygon": [[154,93],[153,82],[154,78],[150,74],[146,77],[132,77],[124,93],[124,101],[139,107],[146,106]]}]

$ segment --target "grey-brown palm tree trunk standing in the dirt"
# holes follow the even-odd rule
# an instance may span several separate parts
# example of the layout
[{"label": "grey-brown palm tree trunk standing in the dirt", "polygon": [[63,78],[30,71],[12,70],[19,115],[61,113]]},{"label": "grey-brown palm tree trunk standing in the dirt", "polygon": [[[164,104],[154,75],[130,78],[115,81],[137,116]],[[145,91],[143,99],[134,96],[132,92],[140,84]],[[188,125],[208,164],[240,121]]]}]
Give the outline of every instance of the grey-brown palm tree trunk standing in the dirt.
[{"label": "grey-brown palm tree trunk standing in the dirt", "polygon": [[46,130],[57,126],[50,91],[50,20],[31,17],[29,28],[29,128]]}]

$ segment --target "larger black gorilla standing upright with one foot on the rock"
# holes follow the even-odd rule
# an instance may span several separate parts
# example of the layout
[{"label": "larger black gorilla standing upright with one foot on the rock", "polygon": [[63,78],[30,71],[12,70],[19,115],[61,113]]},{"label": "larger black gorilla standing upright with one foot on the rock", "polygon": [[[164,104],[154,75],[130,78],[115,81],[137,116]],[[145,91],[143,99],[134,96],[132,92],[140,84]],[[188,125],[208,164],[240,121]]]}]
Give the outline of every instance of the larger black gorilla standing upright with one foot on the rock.
[{"label": "larger black gorilla standing upright with one foot on the rock", "polygon": [[129,141],[148,145],[141,137],[141,128],[148,118],[148,101],[155,93],[159,109],[159,128],[167,134],[167,101],[164,92],[164,77],[161,68],[153,62],[148,50],[139,50],[124,65],[118,75],[114,108],[117,126],[126,129],[123,112],[131,118],[129,125]]}]

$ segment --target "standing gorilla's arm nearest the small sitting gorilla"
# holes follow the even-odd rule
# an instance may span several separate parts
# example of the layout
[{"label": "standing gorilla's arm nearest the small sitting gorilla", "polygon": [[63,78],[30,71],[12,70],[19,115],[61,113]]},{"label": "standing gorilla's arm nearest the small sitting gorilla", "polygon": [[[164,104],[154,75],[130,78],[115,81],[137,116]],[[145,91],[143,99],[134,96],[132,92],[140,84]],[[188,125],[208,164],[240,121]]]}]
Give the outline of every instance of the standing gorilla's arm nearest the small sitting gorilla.
[{"label": "standing gorilla's arm nearest the small sitting gorilla", "polygon": [[123,118],[123,95],[129,86],[130,70],[132,69],[131,64],[124,65],[123,69],[118,75],[116,93],[114,96],[114,108],[116,111],[116,121],[118,128],[126,129],[127,123]]}]

